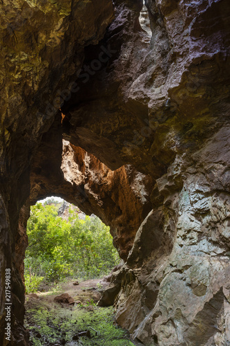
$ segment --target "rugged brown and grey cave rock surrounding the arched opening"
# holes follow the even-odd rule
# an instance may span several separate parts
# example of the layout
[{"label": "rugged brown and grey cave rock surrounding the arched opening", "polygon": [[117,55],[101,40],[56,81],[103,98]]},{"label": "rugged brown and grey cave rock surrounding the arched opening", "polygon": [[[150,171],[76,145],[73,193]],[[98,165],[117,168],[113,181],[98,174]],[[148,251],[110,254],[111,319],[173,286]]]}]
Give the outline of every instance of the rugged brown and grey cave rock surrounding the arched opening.
[{"label": "rugged brown and grey cave rock surrounding the arched opening", "polygon": [[111,227],[105,297],[134,340],[230,345],[230,4],[145,6],[0,1],[3,346],[30,345],[26,222],[47,195]]}]

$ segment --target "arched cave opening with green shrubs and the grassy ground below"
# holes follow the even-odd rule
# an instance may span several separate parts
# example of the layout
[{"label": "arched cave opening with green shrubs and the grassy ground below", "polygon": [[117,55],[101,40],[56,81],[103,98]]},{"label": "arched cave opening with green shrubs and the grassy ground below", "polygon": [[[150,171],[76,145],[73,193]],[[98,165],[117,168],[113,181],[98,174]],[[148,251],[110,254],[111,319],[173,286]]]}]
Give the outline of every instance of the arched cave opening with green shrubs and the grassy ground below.
[{"label": "arched cave opening with green shrubs and the grassy ground below", "polygon": [[[31,345],[134,346],[115,324],[113,307],[97,307],[119,263],[109,228],[73,204],[47,197],[31,207],[25,258],[25,327]],[[109,333],[108,333],[109,330]]]}]

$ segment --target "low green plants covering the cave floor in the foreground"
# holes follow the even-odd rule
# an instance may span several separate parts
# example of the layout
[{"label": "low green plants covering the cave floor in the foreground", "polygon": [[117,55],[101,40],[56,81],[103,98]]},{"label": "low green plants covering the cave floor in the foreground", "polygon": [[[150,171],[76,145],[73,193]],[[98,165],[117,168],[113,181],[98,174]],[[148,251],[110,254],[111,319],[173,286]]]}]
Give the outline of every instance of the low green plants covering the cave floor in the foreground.
[{"label": "low green plants covering the cave floor in the foreground", "polygon": [[[90,307],[90,309],[89,309]],[[61,307],[55,303],[30,302],[26,313],[26,328],[30,330],[32,345],[133,346],[128,332],[115,323],[113,307],[96,307],[93,302],[85,306]],[[91,338],[73,336],[90,330]],[[40,337],[37,337],[38,333]]]}]

